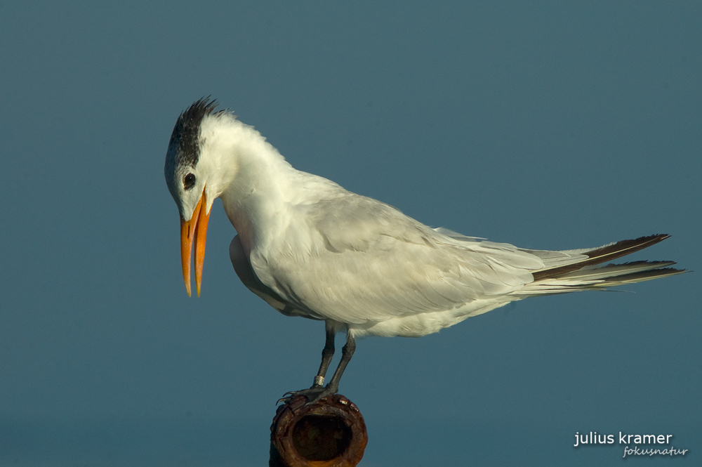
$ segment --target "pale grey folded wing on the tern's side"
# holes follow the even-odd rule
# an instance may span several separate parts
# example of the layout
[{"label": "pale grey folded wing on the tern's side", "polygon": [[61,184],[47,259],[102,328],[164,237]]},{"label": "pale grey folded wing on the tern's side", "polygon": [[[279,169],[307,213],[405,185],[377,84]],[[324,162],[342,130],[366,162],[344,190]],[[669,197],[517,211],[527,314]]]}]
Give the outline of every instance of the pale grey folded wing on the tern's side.
[{"label": "pale grey folded wing on the tern's side", "polygon": [[251,251],[260,283],[310,317],[354,324],[510,294],[544,267],[536,254],[451,238],[352,193],[296,205],[278,237]]}]

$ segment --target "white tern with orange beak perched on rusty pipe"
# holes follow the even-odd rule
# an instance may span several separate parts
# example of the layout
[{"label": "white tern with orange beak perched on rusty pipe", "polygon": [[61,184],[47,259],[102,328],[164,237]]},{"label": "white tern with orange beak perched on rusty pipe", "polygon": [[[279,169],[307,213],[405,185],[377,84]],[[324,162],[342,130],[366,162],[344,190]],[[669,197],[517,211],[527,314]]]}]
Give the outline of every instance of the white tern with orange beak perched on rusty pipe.
[{"label": "white tern with orange beak perched on rusty pipe", "polygon": [[[322,364],[305,395],[336,393],[362,336],[425,336],[531,296],[597,290],[680,274],[673,261],[600,265],[668,237],[543,251],[430,228],[388,204],[293,169],[265,138],[203,98],[180,114],[166,153],[166,183],[180,211],[183,278],[200,294],[214,199],[237,236],[234,270],[280,313],[326,323]],[[346,345],[329,383],[334,335]]]}]

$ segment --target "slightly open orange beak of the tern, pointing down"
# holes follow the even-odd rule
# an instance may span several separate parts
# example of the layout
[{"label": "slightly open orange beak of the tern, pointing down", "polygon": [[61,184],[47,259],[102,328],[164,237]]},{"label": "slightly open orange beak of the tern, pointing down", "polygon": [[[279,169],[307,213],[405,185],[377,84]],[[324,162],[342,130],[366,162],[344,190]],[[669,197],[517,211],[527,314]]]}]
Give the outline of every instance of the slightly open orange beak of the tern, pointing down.
[{"label": "slightly open orange beak of the tern, pointing down", "polygon": [[190,256],[193,242],[195,244],[195,287],[197,287],[197,296],[200,296],[207,221],[210,218],[210,215],[205,212],[206,210],[207,199],[203,190],[190,221],[185,221],[183,217],[180,218],[180,261],[183,262],[183,280],[185,280],[185,290],[187,290],[188,296],[190,296]]}]

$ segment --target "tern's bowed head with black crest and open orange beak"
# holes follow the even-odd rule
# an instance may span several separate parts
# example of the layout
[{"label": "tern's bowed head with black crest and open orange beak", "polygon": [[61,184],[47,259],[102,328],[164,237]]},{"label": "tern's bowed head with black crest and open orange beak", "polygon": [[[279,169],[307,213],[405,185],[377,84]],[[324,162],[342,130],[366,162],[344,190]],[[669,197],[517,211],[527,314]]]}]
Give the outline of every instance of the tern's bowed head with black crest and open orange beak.
[{"label": "tern's bowed head with black crest and open orange beak", "polygon": [[213,178],[211,159],[202,134],[203,121],[223,114],[217,103],[202,98],[180,114],[166,152],[166,185],[180,211],[180,258],[185,289],[190,295],[190,258],[195,246],[195,285],[200,295],[202,263],[205,256],[207,221],[214,199],[219,195]]}]

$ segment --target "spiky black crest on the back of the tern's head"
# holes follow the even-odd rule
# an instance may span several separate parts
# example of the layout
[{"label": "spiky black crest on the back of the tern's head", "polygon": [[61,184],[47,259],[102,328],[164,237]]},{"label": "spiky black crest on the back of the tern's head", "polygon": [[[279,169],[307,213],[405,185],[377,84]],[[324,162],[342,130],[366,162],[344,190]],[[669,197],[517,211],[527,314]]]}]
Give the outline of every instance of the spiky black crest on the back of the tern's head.
[{"label": "spiky black crest on the back of the tern's head", "polygon": [[[212,115],[217,108],[217,101],[210,99],[210,96],[195,101],[187,110],[180,114],[176,126],[171,133],[171,142],[168,147],[176,150],[176,165],[191,166],[197,164],[200,156],[198,133],[200,124],[205,115]],[[220,110],[220,112],[223,112]]]}]

